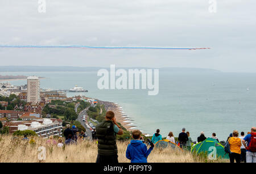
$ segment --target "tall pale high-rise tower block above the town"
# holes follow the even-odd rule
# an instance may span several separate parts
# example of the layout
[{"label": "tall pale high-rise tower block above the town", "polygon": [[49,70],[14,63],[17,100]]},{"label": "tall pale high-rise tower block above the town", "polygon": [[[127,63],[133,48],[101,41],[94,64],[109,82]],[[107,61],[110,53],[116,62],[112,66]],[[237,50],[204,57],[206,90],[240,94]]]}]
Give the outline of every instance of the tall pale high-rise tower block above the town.
[{"label": "tall pale high-rise tower block above the town", "polygon": [[40,101],[40,80],[38,77],[27,78],[27,102],[37,104]]}]

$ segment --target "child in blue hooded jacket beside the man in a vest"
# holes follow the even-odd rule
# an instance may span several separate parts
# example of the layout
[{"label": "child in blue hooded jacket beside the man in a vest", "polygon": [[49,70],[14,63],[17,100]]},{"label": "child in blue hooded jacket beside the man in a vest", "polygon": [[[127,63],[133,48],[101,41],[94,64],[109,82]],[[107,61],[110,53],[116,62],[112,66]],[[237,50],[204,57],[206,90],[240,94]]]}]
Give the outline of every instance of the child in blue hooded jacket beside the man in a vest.
[{"label": "child in blue hooded jacket beside the man in a vest", "polygon": [[141,138],[140,130],[133,130],[133,139],[127,146],[126,158],[131,160],[131,163],[147,163],[147,156],[154,148],[154,143],[150,144],[150,148],[147,150],[147,146],[139,140]]}]

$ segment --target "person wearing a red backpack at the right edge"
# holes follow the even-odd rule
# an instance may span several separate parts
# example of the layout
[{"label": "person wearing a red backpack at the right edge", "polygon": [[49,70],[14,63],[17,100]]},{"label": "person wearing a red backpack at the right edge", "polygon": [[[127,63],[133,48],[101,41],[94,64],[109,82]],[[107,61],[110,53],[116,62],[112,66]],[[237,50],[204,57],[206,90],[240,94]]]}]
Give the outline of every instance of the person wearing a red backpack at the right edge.
[{"label": "person wearing a red backpack at the right edge", "polygon": [[[246,145],[247,142],[247,145]],[[246,148],[246,163],[256,163],[256,128],[251,128],[251,133],[242,140]]]}]

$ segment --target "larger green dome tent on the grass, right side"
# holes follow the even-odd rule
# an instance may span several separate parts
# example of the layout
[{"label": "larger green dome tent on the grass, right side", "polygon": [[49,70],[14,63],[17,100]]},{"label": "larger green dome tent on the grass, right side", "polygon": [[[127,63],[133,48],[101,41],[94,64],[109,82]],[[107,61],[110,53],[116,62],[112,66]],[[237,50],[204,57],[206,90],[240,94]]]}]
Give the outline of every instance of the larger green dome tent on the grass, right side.
[{"label": "larger green dome tent on the grass, right side", "polygon": [[214,160],[217,158],[229,159],[229,155],[224,151],[224,147],[213,138],[207,138],[205,141],[197,143],[192,147],[191,152],[200,154],[204,152],[207,154],[208,159]]}]

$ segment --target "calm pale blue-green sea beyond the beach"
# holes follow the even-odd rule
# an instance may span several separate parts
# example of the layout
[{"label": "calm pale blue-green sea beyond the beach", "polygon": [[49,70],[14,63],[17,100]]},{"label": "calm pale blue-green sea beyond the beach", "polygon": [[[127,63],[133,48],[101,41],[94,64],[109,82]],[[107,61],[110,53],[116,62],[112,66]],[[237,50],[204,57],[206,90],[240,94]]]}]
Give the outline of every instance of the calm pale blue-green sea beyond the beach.
[{"label": "calm pale blue-green sea beyond the beach", "polygon": [[[256,73],[172,72],[159,71],[159,94],[148,90],[100,90],[97,71],[92,72],[5,72],[1,75],[36,75],[44,77],[43,89],[68,90],[83,87],[89,92],[67,93],[113,101],[131,117],[131,125],[144,134],[177,137],[182,128],[196,141],[201,131],[206,137],[216,133],[226,140],[233,130],[250,131],[256,126]],[[10,81],[23,85],[27,80]]]}]

